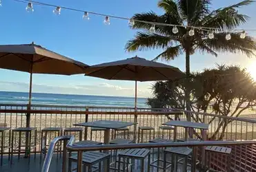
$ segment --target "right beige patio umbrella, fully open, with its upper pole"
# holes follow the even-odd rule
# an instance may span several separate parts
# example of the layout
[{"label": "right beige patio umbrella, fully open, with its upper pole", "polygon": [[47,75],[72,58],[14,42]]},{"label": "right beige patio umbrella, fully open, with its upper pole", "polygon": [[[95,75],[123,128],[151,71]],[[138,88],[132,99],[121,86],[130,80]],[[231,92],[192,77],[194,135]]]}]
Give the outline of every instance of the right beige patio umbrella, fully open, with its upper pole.
[{"label": "right beige patio umbrella, fully open, with its upper pole", "polygon": [[137,108],[137,81],[176,80],[184,77],[177,67],[148,61],[137,56],[122,61],[92,65],[85,69],[86,76],[109,80],[135,80],[135,109]]}]

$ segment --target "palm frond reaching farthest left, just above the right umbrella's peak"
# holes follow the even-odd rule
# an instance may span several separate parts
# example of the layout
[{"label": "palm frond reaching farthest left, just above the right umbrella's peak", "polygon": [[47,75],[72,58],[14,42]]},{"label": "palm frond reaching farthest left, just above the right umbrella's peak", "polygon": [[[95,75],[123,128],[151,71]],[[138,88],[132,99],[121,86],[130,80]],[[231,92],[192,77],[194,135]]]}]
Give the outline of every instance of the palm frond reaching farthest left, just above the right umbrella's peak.
[{"label": "palm frond reaching farthest left, just above the right umbrella's peak", "polygon": [[126,43],[126,50],[128,50],[128,52],[133,52],[136,50],[141,51],[155,48],[166,48],[171,41],[171,37],[168,36],[137,32],[135,39],[132,39]]}]

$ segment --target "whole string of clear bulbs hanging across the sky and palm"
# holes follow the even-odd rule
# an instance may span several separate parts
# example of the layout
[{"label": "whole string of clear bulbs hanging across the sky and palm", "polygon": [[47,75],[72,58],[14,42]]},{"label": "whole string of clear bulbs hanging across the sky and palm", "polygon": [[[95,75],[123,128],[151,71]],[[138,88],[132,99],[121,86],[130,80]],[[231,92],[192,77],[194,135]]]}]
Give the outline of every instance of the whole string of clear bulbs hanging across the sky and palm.
[{"label": "whole string of clear bulbs hanging across the sky and palm", "polygon": [[[79,9],[75,9],[75,8],[69,8],[69,7],[64,7],[64,6],[56,6],[56,5],[52,5],[52,4],[49,4],[49,3],[41,3],[41,2],[39,2],[39,1],[33,1],[33,0],[13,0],[13,1],[18,1],[18,2],[20,2],[20,3],[33,3],[34,5],[36,4],[36,5],[41,5],[41,6],[50,6],[50,7],[54,7],[54,8],[56,8],[55,10],[54,10],[54,13],[55,14],[60,14],[60,12],[61,12],[61,8],[63,8],[63,9],[65,9],[65,10],[72,10],[72,11],[75,11],[75,12],[83,12],[84,14],[85,14],[85,11],[84,10],[79,10]],[[1,0],[0,0],[0,6],[1,6]],[[31,8],[29,8],[30,10],[32,10]],[[210,28],[210,27],[201,27],[201,26],[193,26],[193,25],[190,25],[190,26],[186,26],[186,25],[184,25],[184,24],[182,24],[182,25],[173,25],[173,24],[169,24],[169,23],[158,23],[158,22],[152,22],[152,21],[141,21],[141,20],[136,20],[136,19],[129,19],[129,18],[126,18],[126,17],[118,17],[118,16],[112,16],[112,15],[108,15],[108,14],[102,14],[102,13],[98,13],[98,12],[88,12],[88,13],[90,13],[90,14],[95,14],[95,15],[98,15],[98,16],[103,16],[103,17],[106,17],[106,18],[108,18],[108,20],[104,20],[104,23],[106,24],[106,25],[109,25],[110,24],[110,17],[112,17],[112,18],[114,18],[114,19],[123,19],[123,20],[126,20],[126,21],[128,21],[128,24],[130,25],[130,26],[132,26],[132,25],[134,25],[134,23],[136,22],[139,22],[139,23],[147,23],[147,24],[150,24],[150,25],[161,25],[161,26],[169,26],[169,27],[173,27],[173,33],[174,34],[177,34],[178,32],[179,32],[179,30],[178,30],[178,27],[179,28],[190,28],[190,31],[189,31],[189,35],[190,36],[193,36],[193,35],[195,35],[195,30],[198,30],[198,32],[200,32],[200,30],[202,31],[202,32],[208,32],[209,34],[208,34],[208,38],[210,39],[211,37],[213,37],[214,38],[214,34],[211,34],[211,31],[213,31],[213,30],[218,30],[218,28]],[[88,14],[87,13],[87,14]],[[83,15],[83,16],[85,16],[85,19],[89,19],[89,17],[87,18],[86,17],[86,15]],[[106,22],[105,22],[106,21]],[[154,27],[155,28],[155,27]],[[153,29],[153,27],[151,27],[151,31],[154,31],[154,29]],[[252,29],[252,30],[232,30],[232,31],[230,31],[230,30],[221,30],[221,32],[241,32],[241,31],[253,31],[253,32],[256,32],[256,29]],[[215,32],[216,33],[216,32]],[[209,37],[209,35],[210,35],[210,37]],[[226,35],[226,36],[228,36],[228,35]],[[229,37],[229,36],[228,36]],[[243,33],[241,33],[240,34],[240,38],[241,39],[244,39],[246,37],[246,33],[245,32],[243,32]],[[231,39],[231,36],[230,36],[230,39]]]}]

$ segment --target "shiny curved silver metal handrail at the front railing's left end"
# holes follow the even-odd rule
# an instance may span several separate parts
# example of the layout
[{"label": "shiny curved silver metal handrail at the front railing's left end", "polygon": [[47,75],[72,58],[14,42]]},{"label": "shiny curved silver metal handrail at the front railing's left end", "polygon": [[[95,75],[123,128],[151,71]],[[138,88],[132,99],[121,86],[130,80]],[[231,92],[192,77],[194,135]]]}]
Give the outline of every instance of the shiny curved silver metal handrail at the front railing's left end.
[{"label": "shiny curved silver metal handrail at the front railing's left end", "polygon": [[53,151],[55,150],[55,145],[57,144],[57,142],[59,141],[64,141],[64,147],[63,147],[63,165],[62,165],[62,171],[66,171],[66,145],[67,145],[67,141],[68,141],[68,145],[72,145],[72,142],[75,141],[75,136],[59,136],[57,138],[55,138],[54,140],[52,140],[52,142],[50,142],[49,148],[48,148],[48,153],[46,155],[45,160],[43,161],[43,167],[41,169],[41,172],[48,172],[49,168],[50,168],[50,162],[52,160],[52,155],[53,155]]}]

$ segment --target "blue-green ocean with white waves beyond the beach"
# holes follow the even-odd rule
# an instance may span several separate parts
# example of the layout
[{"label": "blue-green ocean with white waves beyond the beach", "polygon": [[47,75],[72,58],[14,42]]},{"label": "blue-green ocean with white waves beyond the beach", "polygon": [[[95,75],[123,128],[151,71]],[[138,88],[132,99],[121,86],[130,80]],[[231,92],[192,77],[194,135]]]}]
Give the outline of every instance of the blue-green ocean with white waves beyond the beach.
[{"label": "blue-green ocean with white waves beyond the beach", "polygon": [[[137,107],[148,107],[146,98],[137,99]],[[0,92],[0,104],[28,104],[28,93]],[[32,93],[32,104],[134,107],[135,98],[117,96],[86,96],[71,94]]]}]

